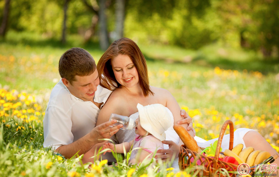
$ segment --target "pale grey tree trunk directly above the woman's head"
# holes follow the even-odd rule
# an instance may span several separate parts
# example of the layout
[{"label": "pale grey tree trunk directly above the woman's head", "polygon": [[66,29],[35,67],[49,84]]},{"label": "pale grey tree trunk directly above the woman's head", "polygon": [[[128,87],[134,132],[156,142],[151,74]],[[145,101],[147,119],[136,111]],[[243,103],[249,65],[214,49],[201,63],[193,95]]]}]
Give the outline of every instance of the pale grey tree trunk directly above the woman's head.
[{"label": "pale grey tree trunk directly above the woman's head", "polygon": [[116,0],[115,40],[123,37],[125,19],[125,0]]}]

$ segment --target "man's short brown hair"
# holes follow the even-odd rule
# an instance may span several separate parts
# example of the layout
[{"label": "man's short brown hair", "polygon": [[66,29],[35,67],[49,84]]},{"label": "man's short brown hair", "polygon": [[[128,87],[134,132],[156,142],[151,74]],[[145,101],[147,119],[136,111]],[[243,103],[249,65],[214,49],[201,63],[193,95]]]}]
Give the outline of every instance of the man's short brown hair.
[{"label": "man's short brown hair", "polygon": [[96,63],[88,51],[83,48],[71,48],[59,60],[59,74],[70,83],[75,76],[88,76],[96,69]]}]

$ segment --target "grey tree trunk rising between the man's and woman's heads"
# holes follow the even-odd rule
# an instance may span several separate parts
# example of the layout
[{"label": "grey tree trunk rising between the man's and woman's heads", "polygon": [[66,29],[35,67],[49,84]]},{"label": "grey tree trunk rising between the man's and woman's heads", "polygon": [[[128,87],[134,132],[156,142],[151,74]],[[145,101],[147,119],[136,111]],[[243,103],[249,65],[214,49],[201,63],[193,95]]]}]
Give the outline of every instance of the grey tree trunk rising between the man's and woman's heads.
[{"label": "grey tree trunk rising between the man's and woman's heads", "polygon": [[109,46],[108,41],[108,30],[107,30],[107,19],[105,16],[105,0],[99,1],[99,25],[100,25],[100,46],[102,50],[107,50]]}]

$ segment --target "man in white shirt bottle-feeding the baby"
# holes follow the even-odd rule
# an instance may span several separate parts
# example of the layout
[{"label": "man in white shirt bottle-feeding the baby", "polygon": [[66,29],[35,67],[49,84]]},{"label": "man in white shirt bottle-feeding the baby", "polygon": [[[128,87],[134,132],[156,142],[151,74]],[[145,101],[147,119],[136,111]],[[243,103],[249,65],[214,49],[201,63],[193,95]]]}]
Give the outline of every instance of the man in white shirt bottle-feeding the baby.
[{"label": "man in white shirt bottle-feeding the baby", "polygon": [[[99,139],[110,138],[123,125],[109,127],[115,123],[110,121],[96,126],[100,109],[112,91],[99,85],[95,61],[86,50],[66,51],[59,61],[59,73],[62,79],[51,92],[43,121],[44,147],[70,158],[77,152],[85,154],[103,142]],[[191,122],[184,110],[181,115],[183,123]],[[171,142],[167,143],[171,147]],[[166,153],[170,156],[173,152],[170,149]]]}]

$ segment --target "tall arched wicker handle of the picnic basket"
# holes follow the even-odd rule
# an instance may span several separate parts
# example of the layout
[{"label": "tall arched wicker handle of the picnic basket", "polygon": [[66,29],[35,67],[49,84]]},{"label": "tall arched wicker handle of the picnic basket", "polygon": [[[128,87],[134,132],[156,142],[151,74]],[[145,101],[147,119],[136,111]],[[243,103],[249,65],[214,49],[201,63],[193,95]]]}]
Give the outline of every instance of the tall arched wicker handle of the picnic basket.
[{"label": "tall arched wicker handle of the picnic basket", "polygon": [[214,168],[217,168],[217,163],[218,163],[218,158],[219,158],[219,153],[220,153],[220,149],[221,149],[221,143],[222,143],[222,139],[225,133],[225,130],[227,128],[227,126],[230,126],[230,145],[229,145],[229,150],[232,150],[233,148],[233,133],[234,133],[234,128],[233,128],[233,123],[231,120],[227,120],[225,121],[225,123],[223,124],[220,134],[219,134],[219,139],[217,142],[217,147],[216,147],[216,151],[215,151],[215,163],[214,163]]}]

